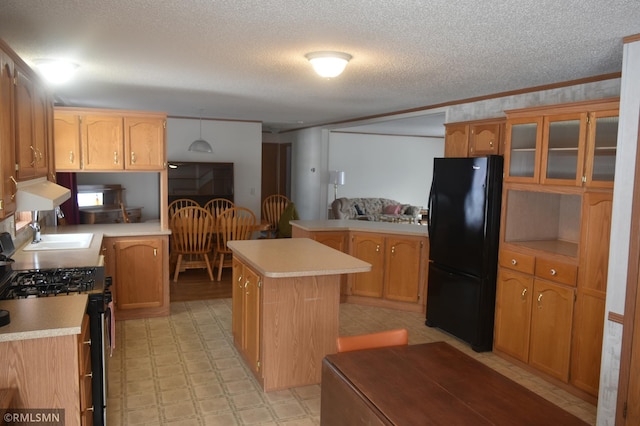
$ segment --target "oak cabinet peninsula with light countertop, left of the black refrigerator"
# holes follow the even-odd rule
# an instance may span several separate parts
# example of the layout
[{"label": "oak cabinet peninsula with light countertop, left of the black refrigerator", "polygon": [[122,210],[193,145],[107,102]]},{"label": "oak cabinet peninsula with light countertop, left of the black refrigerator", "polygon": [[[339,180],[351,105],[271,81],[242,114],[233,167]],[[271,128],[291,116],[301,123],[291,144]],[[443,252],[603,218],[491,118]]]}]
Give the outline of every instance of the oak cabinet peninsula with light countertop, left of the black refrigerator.
[{"label": "oak cabinet peninsula with light countertop, left of the black refrigerator", "polygon": [[343,302],[426,312],[426,226],[348,219],[293,220],[291,225],[294,238],[311,238],[372,265],[371,272],[342,278]]}]

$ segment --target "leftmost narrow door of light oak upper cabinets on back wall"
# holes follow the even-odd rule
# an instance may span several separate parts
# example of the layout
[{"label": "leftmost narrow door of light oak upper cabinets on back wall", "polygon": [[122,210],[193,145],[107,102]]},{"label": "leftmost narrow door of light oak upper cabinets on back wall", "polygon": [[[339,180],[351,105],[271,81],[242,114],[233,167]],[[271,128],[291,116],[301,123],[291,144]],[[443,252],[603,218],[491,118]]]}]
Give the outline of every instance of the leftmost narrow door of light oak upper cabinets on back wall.
[{"label": "leftmost narrow door of light oak upper cabinets on back wall", "polygon": [[80,170],[80,116],[58,112],[53,129],[56,170]]}]

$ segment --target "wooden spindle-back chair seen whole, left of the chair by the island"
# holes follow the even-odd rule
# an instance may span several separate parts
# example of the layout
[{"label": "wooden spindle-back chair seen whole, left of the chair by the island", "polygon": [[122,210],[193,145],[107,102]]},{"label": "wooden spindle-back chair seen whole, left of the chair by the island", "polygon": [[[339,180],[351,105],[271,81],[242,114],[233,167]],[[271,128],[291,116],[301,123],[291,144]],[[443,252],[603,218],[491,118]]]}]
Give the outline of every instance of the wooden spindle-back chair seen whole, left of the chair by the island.
[{"label": "wooden spindle-back chair seen whole, left of the chair by the island", "polygon": [[207,268],[209,279],[213,281],[209,260],[213,223],[211,213],[202,207],[189,206],[176,210],[170,222],[173,250],[177,255],[173,282],[178,282],[181,269],[195,268]]}]

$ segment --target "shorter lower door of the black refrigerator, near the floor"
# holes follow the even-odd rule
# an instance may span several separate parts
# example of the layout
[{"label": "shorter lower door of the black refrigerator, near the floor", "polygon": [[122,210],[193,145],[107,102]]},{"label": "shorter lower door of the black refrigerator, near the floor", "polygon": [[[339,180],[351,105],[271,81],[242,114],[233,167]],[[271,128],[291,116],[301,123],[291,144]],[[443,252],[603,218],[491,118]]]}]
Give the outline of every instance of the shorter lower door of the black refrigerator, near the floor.
[{"label": "shorter lower door of the black refrigerator, near the floor", "polygon": [[484,303],[485,291],[480,278],[430,263],[426,325],[453,334],[475,351],[490,351],[493,309]]}]

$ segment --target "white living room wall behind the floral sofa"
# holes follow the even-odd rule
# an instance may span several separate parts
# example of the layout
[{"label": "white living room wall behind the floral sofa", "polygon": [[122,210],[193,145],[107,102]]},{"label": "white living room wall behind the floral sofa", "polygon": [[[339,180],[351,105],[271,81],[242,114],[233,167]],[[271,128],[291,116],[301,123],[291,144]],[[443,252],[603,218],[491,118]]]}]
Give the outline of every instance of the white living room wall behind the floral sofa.
[{"label": "white living room wall behind the floral sofa", "polygon": [[[444,139],[330,132],[329,170],[343,170],[338,197],[384,197],[427,205],[433,158],[444,156]],[[334,199],[328,184],[327,203]]]}]

